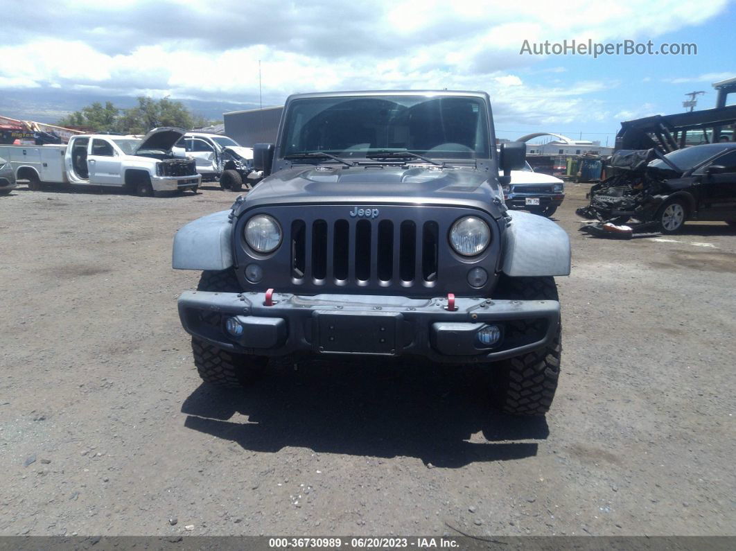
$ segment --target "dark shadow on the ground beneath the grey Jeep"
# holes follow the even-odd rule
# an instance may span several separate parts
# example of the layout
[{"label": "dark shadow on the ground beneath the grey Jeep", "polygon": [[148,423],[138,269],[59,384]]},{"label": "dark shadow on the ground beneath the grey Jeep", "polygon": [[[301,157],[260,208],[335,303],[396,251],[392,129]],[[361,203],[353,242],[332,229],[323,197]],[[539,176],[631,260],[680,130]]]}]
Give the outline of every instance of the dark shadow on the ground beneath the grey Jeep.
[{"label": "dark shadow on the ground beneath the grey Jeep", "polygon": [[[244,449],[378,458],[408,456],[457,468],[537,455],[548,437],[544,417],[494,412],[478,366],[421,361],[288,360],[243,391],[200,385],[182,405],[185,427]],[[233,416],[247,416],[247,422]]]}]

